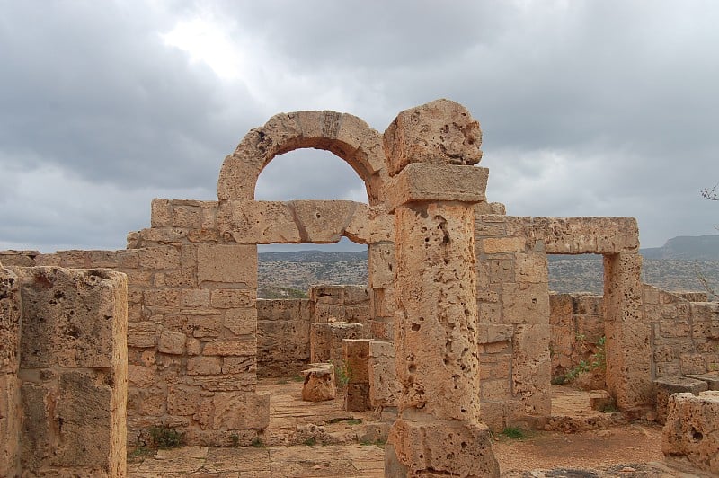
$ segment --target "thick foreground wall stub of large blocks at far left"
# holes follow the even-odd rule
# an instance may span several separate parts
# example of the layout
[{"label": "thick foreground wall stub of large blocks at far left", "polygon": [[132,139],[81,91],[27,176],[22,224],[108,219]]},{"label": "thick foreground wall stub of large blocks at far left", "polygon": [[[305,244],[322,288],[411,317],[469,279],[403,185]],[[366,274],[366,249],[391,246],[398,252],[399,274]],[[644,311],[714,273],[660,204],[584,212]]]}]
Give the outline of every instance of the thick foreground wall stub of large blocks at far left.
[{"label": "thick foreground wall stub of large blocks at far left", "polygon": [[127,280],[0,266],[0,475],[126,473]]}]

